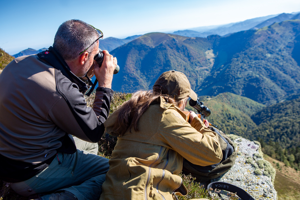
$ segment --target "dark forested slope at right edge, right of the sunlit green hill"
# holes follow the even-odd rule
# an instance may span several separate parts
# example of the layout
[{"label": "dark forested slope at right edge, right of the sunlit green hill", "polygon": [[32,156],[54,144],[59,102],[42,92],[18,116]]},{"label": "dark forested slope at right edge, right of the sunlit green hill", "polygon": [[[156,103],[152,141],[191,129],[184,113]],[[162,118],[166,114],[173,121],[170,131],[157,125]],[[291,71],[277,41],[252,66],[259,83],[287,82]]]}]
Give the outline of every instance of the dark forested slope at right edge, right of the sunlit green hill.
[{"label": "dark forested slope at right edge, right of the sunlit green hill", "polygon": [[300,169],[300,98],[268,106],[252,116],[265,153]]}]

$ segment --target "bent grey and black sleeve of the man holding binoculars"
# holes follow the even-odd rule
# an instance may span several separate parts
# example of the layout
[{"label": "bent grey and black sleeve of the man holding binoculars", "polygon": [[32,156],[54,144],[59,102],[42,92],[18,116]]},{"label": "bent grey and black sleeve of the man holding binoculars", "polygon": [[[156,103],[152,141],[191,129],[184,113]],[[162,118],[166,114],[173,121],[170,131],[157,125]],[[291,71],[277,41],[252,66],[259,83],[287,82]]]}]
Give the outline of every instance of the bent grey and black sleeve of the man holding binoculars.
[{"label": "bent grey and black sleeve of the man holding binoculars", "polygon": [[70,90],[53,106],[49,118],[68,134],[88,142],[98,142],[105,131],[103,123],[108,118],[113,90],[98,87],[93,108],[87,107],[77,88],[71,87]]}]

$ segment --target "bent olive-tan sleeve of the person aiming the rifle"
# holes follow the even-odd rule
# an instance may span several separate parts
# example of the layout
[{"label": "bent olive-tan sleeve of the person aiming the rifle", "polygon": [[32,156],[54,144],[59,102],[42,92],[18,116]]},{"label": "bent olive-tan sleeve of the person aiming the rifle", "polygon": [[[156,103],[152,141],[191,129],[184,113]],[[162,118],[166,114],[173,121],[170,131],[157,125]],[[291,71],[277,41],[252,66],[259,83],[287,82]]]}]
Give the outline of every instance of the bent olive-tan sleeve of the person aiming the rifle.
[{"label": "bent olive-tan sleeve of the person aiming the rifle", "polygon": [[206,128],[198,117],[194,118],[190,125],[176,109],[167,109],[163,116],[158,135],[168,148],[200,166],[221,161],[222,150],[217,133]]}]

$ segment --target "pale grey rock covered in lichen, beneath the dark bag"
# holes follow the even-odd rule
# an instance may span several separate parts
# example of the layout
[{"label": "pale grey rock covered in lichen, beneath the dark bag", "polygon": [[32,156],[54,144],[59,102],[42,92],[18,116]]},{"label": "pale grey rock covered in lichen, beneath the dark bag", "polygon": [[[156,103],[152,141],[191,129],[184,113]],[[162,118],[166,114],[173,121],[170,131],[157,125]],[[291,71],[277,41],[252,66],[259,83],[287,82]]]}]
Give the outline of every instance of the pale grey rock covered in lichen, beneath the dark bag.
[{"label": "pale grey rock covered in lichen, beneath the dark bag", "polygon": [[260,143],[235,135],[227,136],[237,148],[237,159],[227,173],[211,182],[222,181],[236,185],[256,200],[276,200],[277,192],[273,186],[276,171],[271,163],[262,158]]}]

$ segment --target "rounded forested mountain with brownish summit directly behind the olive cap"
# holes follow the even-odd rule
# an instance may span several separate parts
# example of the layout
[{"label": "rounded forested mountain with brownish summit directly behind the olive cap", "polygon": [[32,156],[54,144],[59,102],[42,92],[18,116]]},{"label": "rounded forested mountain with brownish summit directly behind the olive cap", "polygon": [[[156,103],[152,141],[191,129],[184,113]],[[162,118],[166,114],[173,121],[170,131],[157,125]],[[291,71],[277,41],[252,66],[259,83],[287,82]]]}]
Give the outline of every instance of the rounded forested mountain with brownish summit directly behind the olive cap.
[{"label": "rounded forested mountain with brownish summit directly behind the olive cap", "polygon": [[185,73],[195,88],[212,68],[213,61],[207,56],[211,47],[207,38],[145,34],[111,52],[120,66],[120,72],[113,78],[113,88],[122,92],[148,89],[168,70]]}]

